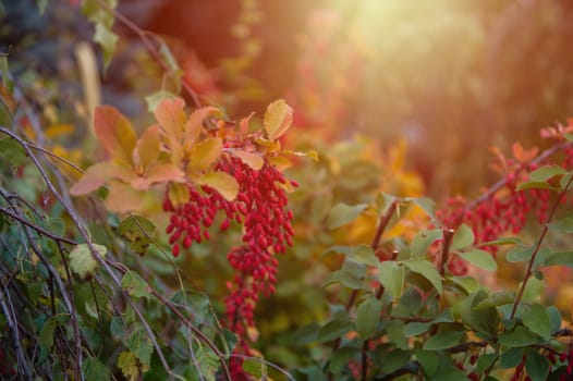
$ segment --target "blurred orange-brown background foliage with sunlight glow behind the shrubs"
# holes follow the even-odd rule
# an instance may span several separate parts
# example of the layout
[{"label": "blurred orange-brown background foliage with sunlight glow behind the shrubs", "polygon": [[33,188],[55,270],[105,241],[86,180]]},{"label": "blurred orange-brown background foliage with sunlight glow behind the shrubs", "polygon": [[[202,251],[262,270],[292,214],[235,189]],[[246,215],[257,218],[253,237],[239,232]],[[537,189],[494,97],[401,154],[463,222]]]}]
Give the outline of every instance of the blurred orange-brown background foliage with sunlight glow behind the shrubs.
[{"label": "blurred orange-brown background foliage with sunlight glow behind the shrubs", "polygon": [[[51,149],[84,168],[98,160],[93,99],[143,128],[151,121],[146,97],[178,90],[120,23],[103,71],[78,1],[48,1],[44,13],[44,1],[0,3],[0,52],[17,88],[33,100]],[[260,118],[283,97],[295,110],[286,144],[319,152],[318,163],[290,171],[301,183],[291,195],[295,246],[281,259],[277,295],[257,316],[257,345],[290,367],[325,355],[319,345],[306,346],[313,337],[305,334],[339,297],[337,288],[320,287],[340,266],[325,249],[368,244],[374,235],[376,213],[327,232],[334,204],[373,204],[380,192],[438,201],[476,196],[496,179],[490,146],[542,145],[539,128],[573,114],[573,3],[566,0],[119,0],[118,10],[163,38],[182,81],[204,103],[223,107],[231,119],[251,111]],[[81,42],[96,53],[96,83],[82,75]],[[424,220],[409,213],[392,234],[407,235]],[[212,300],[225,293],[224,253],[236,237],[216,237],[176,260]],[[154,250],[133,261],[172,281]]]}]

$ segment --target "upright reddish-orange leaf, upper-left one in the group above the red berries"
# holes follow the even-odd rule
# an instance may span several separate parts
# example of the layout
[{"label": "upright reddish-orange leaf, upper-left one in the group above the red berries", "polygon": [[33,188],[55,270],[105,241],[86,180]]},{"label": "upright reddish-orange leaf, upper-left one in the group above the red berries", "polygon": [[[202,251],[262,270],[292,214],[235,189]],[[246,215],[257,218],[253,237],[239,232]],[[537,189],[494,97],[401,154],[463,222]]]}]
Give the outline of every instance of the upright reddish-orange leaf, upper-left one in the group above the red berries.
[{"label": "upright reddish-orange leaf, upper-left one in the group above the red berries", "polygon": [[132,162],[136,135],[127,118],[111,106],[98,106],[94,114],[94,127],[112,160]]}]

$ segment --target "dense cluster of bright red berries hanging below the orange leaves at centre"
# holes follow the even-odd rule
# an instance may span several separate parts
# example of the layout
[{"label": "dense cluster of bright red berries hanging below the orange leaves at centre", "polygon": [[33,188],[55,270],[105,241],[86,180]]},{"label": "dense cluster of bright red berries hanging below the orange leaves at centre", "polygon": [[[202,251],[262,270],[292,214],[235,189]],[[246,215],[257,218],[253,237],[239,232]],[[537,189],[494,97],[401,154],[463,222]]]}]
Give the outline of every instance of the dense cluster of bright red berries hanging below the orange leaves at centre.
[{"label": "dense cluster of bright red berries hanging below the orange leaves at centre", "polygon": [[[181,246],[188,248],[193,242],[209,239],[208,229],[218,211],[224,212],[220,230],[229,228],[234,220],[243,224],[243,243],[232,248],[228,260],[235,270],[227,286],[230,295],[225,299],[228,327],[240,337],[239,351],[248,355],[245,334],[254,328],[254,310],[260,294],[273,294],[277,284],[278,260],[276,254],[292,246],[294,231],[293,213],[288,209],[285,186],[288,181],[275,167],[265,164],[259,171],[236,158],[223,158],[217,171],[231,174],[240,184],[236,198],[224,199],[209,187],[200,192],[190,186],[190,199],[184,205],[173,206],[168,197],[163,209],[171,213],[167,233],[172,253],[178,256]],[[292,186],[296,182],[289,181]],[[231,370],[234,379],[241,380],[242,361],[233,359]]]}]

